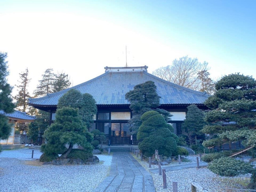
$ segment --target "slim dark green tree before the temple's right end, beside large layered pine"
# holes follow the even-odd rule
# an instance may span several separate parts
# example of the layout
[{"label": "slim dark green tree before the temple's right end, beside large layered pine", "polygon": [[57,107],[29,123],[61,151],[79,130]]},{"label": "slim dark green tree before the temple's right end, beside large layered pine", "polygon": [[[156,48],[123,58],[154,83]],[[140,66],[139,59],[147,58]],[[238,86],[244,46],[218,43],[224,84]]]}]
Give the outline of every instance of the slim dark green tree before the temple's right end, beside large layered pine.
[{"label": "slim dark green tree before the temple's right end, beside large layered pine", "polygon": [[182,134],[187,136],[191,147],[192,137],[195,138],[193,143],[196,144],[198,137],[204,139],[204,133],[201,132],[203,126],[206,125],[204,121],[204,113],[198,109],[196,105],[187,107],[187,114],[184,123],[182,123]]}]

